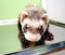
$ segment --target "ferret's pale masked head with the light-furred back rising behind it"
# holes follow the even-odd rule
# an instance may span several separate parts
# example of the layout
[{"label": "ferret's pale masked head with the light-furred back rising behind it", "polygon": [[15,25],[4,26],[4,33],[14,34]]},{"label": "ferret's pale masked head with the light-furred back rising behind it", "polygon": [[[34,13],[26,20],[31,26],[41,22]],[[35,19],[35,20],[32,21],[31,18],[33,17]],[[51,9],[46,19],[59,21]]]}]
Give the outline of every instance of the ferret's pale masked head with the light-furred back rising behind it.
[{"label": "ferret's pale masked head with the light-furred back rising behind it", "polygon": [[22,11],[20,14],[20,22],[25,39],[37,42],[44,33],[49,24],[49,18],[42,8],[31,4]]}]

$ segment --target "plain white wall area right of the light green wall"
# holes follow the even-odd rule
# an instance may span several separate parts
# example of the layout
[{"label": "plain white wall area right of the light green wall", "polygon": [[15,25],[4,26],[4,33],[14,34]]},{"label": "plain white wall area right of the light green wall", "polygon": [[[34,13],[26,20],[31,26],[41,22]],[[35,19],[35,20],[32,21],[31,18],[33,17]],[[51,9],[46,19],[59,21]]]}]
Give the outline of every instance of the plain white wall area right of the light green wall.
[{"label": "plain white wall area right of the light green wall", "polygon": [[42,0],[50,19],[65,24],[65,0]]}]

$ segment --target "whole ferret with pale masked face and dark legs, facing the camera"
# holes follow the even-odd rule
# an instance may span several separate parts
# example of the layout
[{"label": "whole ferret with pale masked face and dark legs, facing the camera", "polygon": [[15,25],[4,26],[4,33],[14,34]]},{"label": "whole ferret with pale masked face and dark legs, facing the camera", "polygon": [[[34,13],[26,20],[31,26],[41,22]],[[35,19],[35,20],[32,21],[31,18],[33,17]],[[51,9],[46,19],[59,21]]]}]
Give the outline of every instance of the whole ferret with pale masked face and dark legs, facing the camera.
[{"label": "whole ferret with pale masked face and dark legs, facing the camera", "polygon": [[49,31],[49,16],[46,10],[37,4],[27,5],[18,16],[18,38],[23,49],[44,45],[46,40],[53,40]]}]

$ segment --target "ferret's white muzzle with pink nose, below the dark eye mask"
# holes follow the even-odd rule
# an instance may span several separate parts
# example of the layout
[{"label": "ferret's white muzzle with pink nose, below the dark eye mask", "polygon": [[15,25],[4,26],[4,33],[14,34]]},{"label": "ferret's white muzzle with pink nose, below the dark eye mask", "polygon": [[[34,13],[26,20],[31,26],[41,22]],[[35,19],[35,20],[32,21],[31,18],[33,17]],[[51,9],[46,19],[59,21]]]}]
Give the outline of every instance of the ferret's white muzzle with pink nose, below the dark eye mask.
[{"label": "ferret's white muzzle with pink nose, below the dark eye mask", "polygon": [[24,33],[25,39],[30,41],[30,42],[37,42],[41,39],[41,36],[39,33],[30,33],[30,32],[26,32]]}]

